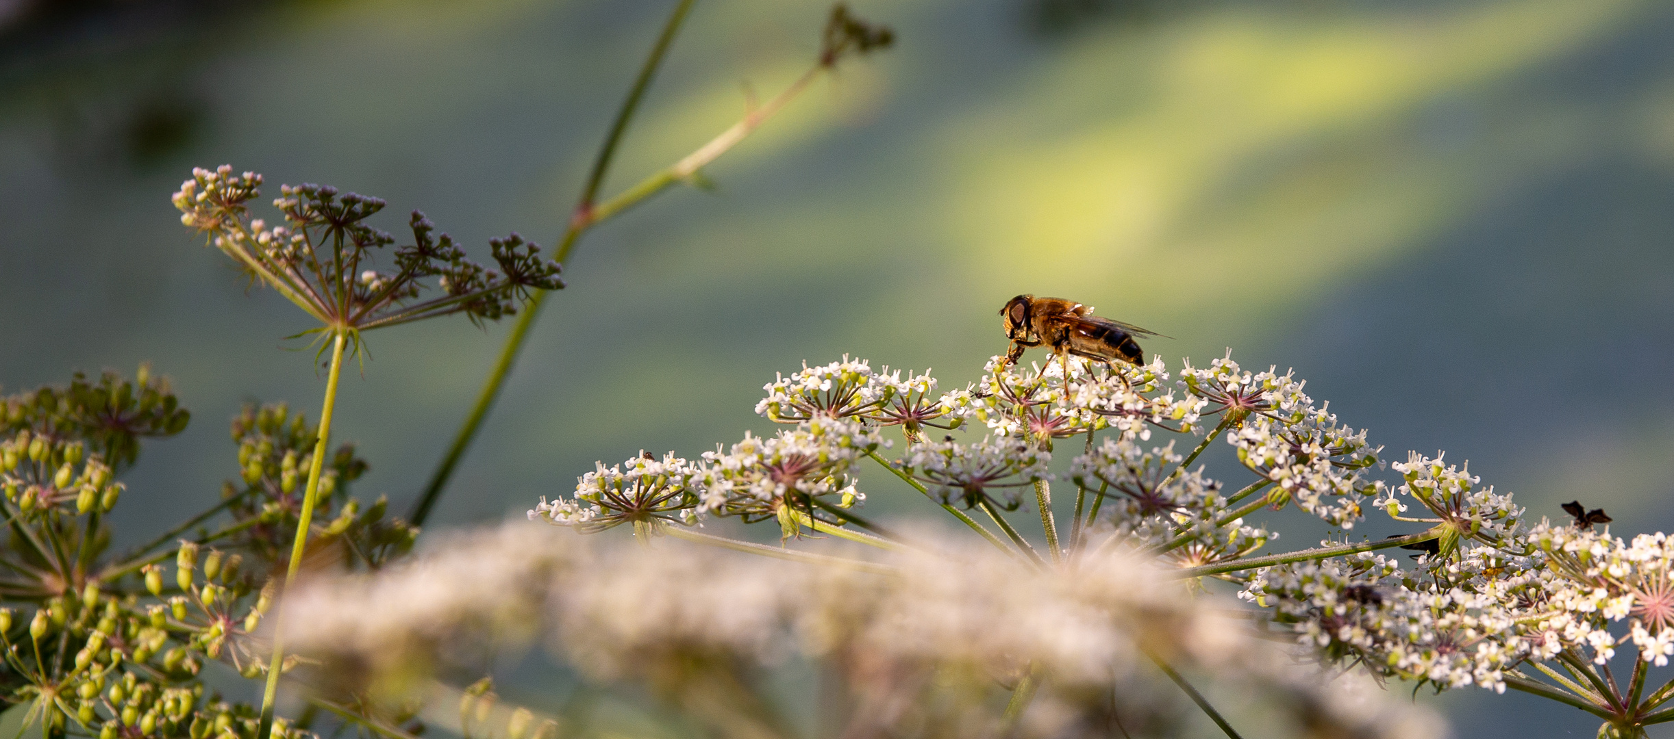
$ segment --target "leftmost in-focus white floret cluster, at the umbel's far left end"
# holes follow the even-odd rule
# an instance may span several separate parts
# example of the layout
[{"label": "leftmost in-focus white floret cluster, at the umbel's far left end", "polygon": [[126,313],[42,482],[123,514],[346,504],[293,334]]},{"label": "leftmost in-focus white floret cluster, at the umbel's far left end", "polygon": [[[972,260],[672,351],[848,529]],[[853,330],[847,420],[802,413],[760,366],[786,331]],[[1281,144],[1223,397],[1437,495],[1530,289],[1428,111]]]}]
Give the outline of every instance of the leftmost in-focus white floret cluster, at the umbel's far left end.
[{"label": "leftmost in-focus white floret cluster, at the umbel's far left end", "polygon": [[698,505],[708,483],[708,470],[675,456],[661,460],[641,451],[638,456],[606,468],[603,463],[576,480],[573,500],[556,500],[529,512],[529,520],[601,532],[621,523],[651,522],[696,523]]}]

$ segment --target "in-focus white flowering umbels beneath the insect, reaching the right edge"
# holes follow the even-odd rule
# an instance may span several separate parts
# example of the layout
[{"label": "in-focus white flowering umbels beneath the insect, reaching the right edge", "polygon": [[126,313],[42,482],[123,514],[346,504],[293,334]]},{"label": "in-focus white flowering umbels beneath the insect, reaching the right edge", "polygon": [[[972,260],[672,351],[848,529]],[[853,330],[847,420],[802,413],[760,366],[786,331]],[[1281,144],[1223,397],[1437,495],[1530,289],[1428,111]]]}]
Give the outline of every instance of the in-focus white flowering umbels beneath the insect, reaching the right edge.
[{"label": "in-focus white flowering umbels beneath the insect, reaching the right edge", "polygon": [[[1170,375],[1178,380],[1170,383]],[[1582,512],[1574,513],[1574,523],[1542,518],[1530,525],[1510,493],[1483,487],[1466,466],[1420,453],[1388,461],[1364,428],[1344,425],[1326,403],[1316,403],[1294,373],[1244,370],[1230,351],[1207,368],[1190,361],[1170,368],[1160,358],[1108,368],[1076,356],[1024,368],[994,356],[966,388],[931,400],[936,386],[926,373],[907,388],[899,375],[874,373],[869,361],[847,356],[780,375],[765,386],[757,413],[795,425],[775,438],[797,438],[798,458],[839,465],[832,471],[844,475],[845,505],[752,498],[755,508],[743,520],[778,520],[778,548],[701,532],[708,517],[728,513],[713,505],[638,533],[860,572],[876,570],[867,570],[867,560],[834,562],[793,542],[835,535],[896,553],[947,552],[944,542],[902,537],[862,515],[864,502],[886,495],[857,477],[862,458],[870,458],[879,471],[1023,563],[1004,575],[1013,587],[1061,573],[1093,577],[1112,567],[1110,557],[1128,557],[1182,592],[1235,594],[1244,605],[1239,625],[1229,629],[1249,637],[1286,635],[1291,659],[1333,674],[1435,691],[1481,685],[1530,692],[1597,716],[1600,736],[1610,737],[1639,737],[1647,726],[1674,721],[1674,707],[1667,707],[1674,680],[1661,687],[1649,680],[1651,667],[1674,657],[1674,545],[1661,533],[1624,542],[1602,527],[1607,515],[1585,513],[1579,503],[1567,507]],[[949,431],[941,440],[924,433],[922,421],[932,418]],[[819,425],[840,426],[844,435],[807,433]],[[899,448],[879,436],[889,426],[901,428]],[[860,436],[874,441],[854,445]],[[1055,443],[1075,438],[1083,438],[1081,453],[1063,453],[1055,463]],[[1194,463],[1215,440],[1232,448],[1237,463],[1210,475]],[[690,471],[691,495],[730,500],[738,495],[738,470],[752,465],[760,470],[757,480],[770,480],[772,465],[758,461],[763,446],[748,436],[732,455],[705,455]],[[1237,482],[1224,485],[1222,477]],[[1063,538],[1053,483],[1075,492]],[[576,505],[586,485],[583,478]],[[835,477],[830,485],[837,485]],[[1030,488],[1033,498],[1023,495]],[[1040,538],[1026,537],[1028,527],[1008,515],[1026,503],[1040,513]],[[574,527],[552,513],[561,505],[544,503],[531,518]],[[1319,547],[1269,553],[1279,535],[1252,517],[1289,507],[1343,533]],[[1423,528],[1349,540],[1346,533],[1368,512]],[[1394,548],[1418,552],[1415,562],[1389,555]],[[1063,615],[1038,629],[1071,634],[1075,627]],[[1128,639],[1145,644],[1142,634]],[[1006,682],[1011,719],[1035,701],[1041,682],[1066,691],[1076,680],[1073,670],[1038,650],[1045,647],[1033,649],[1011,652],[1009,667],[988,665],[1021,675]],[[1622,660],[1630,654],[1625,667],[1619,652]],[[1227,736],[1239,736],[1165,655],[1155,657],[1157,669]],[[1612,665],[1627,677],[1619,679]],[[1065,709],[1063,694],[1046,701]],[[1091,716],[1091,704],[1071,699],[1070,706],[1076,716]]]}]

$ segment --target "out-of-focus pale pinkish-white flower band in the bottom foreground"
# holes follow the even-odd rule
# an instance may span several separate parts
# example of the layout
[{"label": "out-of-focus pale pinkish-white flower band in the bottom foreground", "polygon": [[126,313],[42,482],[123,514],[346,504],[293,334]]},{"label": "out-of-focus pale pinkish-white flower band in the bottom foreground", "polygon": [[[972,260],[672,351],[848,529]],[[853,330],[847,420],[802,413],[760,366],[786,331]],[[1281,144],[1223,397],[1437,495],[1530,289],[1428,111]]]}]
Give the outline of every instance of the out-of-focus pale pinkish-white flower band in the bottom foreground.
[{"label": "out-of-focus pale pinkish-white flower band in the bottom foreground", "polygon": [[[1185,711],[1153,660],[1214,675],[1282,736],[1425,737],[1428,712],[1296,667],[1122,555],[1045,572],[951,542],[874,572],[653,547],[507,525],[455,535],[378,575],[321,578],[283,604],[286,639],[338,689],[397,701],[435,670],[480,664],[460,645],[544,635],[591,680],[651,689],[723,736],[788,737],[763,670],[815,660],[842,736],[1182,736]],[[671,548],[680,548],[671,552]],[[1294,649],[1294,647],[1292,647]],[[1004,694],[1030,680],[1026,711]]]}]

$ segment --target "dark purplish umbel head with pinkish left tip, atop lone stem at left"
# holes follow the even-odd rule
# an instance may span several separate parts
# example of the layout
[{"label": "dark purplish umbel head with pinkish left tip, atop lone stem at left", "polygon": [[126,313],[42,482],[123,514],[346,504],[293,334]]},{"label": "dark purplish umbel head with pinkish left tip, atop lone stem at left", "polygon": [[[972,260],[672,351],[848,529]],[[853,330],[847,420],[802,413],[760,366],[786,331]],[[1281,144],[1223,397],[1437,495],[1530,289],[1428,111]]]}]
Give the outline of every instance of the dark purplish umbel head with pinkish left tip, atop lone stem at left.
[{"label": "dark purplish umbel head with pinkish left tip, atop lone stem at left", "polygon": [[[383,201],[328,186],[281,186],[273,206],[285,224],[270,227],[249,217],[248,204],[259,187],[256,172],[194,169],[174,194],[174,207],[181,222],[318,319],[321,329],[358,336],[450,313],[497,319],[516,313],[516,301],[529,291],[564,286],[557,262],[541,259],[537,244],[517,234],[494,239],[489,246],[499,269],[485,269],[418,211],[408,219],[412,241],[395,247],[393,266],[380,271],[375,257],[395,237],[365,221]],[[434,286],[427,284],[432,278]],[[440,294],[424,298],[432,289]]]}]

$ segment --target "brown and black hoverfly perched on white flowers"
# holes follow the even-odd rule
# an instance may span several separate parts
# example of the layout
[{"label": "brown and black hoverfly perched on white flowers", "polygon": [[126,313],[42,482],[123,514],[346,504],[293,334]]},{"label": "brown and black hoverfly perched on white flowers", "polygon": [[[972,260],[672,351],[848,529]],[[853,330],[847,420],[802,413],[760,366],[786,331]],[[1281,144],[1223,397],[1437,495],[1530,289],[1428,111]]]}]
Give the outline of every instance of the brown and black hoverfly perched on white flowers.
[{"label": "brown and black hoverfly perched on white flowers", "polygon": [[1098,359],[1117,371],[1117,361],[1145,364],[1145,353],[1133,341],[1135,336],[1162,336],[1130,323],[1095,316],[1091,306],[1063,298],[1019,294],[999,309],[999,316],[1006,338],[1011,339],[1004,364],[1018,361],[1030,346],[1050,346],[1056,356]]}]

